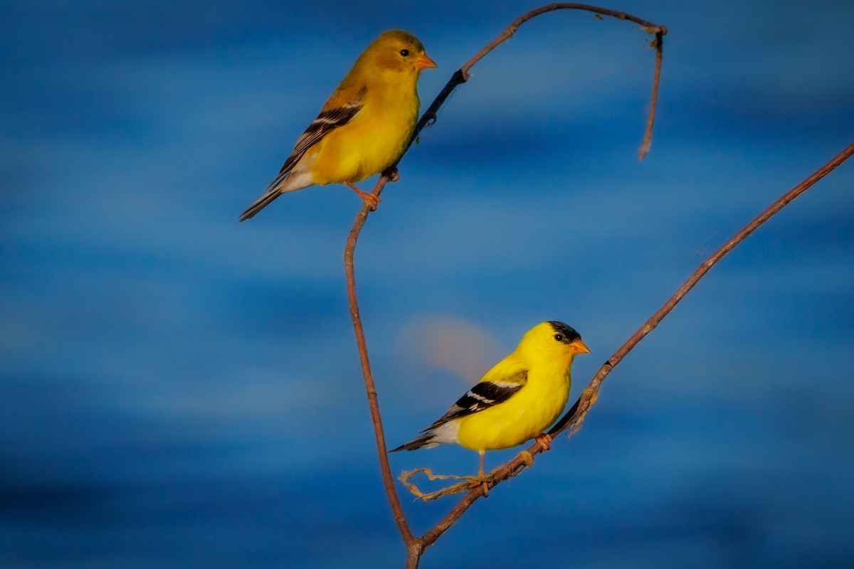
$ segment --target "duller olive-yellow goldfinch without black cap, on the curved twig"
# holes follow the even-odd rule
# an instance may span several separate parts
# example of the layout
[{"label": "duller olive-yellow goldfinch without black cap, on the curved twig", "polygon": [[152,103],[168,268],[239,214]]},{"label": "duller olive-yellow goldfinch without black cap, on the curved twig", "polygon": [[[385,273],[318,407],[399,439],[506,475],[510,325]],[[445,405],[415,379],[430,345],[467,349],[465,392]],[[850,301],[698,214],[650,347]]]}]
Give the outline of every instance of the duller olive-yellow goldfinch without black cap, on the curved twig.
[{"label": "duller olive-yellow goldfinch without black cap, on the curved twig", "polygon": [[284,161],[266,193],[240,221],[285,192],[313,184],[343,183],[376,209],[379,198],[355,182],[384,171],[407,147],[418,120],[418,75],[436,67],[411,33],[380,34],[354,63]]}]

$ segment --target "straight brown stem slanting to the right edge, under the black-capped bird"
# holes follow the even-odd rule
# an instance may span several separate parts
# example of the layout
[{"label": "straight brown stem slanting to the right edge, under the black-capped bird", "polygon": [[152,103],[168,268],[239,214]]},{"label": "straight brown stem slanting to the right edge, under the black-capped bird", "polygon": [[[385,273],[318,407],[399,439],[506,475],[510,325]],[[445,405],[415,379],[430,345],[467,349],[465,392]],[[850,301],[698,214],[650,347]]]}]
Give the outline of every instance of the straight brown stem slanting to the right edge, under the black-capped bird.
[{"label": "straight brown stem slanting to the right edge, under the black-capped bird", "polygon": [[[632,334],[631,338],[629,338],[625,344],[620,346],[619,350],[614,352],[614,355],[608,358],[599,371],[594,374],[593,380],[590,380],[590,384],[587,386],[587,389],[582,392],[582,396],[578,398],[576,404],[574,404],[572,408],[560,418],[548,433],[554,436],[566,431],[567,429],[572,429],[570,436],[575,434],[578,429],[581,428],[582,421],[584,421],[584,417],[588,414],[590,408],[596,403],[596,398],[599,396],[599,390],[602,386],[602,382],[605,380],[605,377],[611,373],[611,369],[617,367],[617,363],[620,363],[620,361],[623,360],[623,357],[625,357],[629,351],[632,351],[635,345],[637,345],[640,340],[643,340],[646,334],[652,332],[652,330],[658,326],[658,323],[664,319],[664,316],[670,314],[670,311],[679,304],[681,299],[685,298],[685,295],[693,288],[693,286],[697,284],[697,282],[699,282],[699,280],[703,278],[703,276],[705,276],[705,274],[709,272],[709,270],[727,253],[737,247],[741,241],[744,241],[747,236],[751,235],[753,231],[759,228],[760,225],[772,218],[775,213],[779,212],[783,207],[787,206],[787,204],[797,198],[798,195],[803,194],[807,189],[810,189],[813,184],[821,180],[822,177],[827,176],[828,173],[833,171],[836,166],[842,164],[845,160],[848,160],[851,157],[851,154],[854,154],[854,142],[851,142],[845,150],[837,154],[833,160],[830,160],[827,164],[816,170],[810,177],[807,177],[803,182],[798,183],[797,186],[789,190],[786,194],[781,195],[779,200],[776,200],[768,209],[760,213],[751,223],[746,224],[746,226],[733,235],[729,241],[724,243],[720,249],[715,253],[712,253],[711,257],[705,259],[705,261],[699,265],[697,270],[688,277],[687,281],[679,287],[679,290],[677,290],[676,293],[664,303],[664,306],[658,309],[658,311],[653,314],[650,319],[647,320],[637,332],[635,332],[635,334]],[[523,450],[518,454],[518,456],[513,458],[512,461],[506,462],[506,464],[495,469],[494,482],[490,482],[489,487],[494,487],[494,485],[499,484],[502,480],[511,478],[518,474],[521,469],[530,466],[530,462],[526,460],[528,458],[525,456],[526,454],[533,459],[533,456],[543,451],[544,449],[540,443],[532,444],[527,450]],[[442,521],[421,537],[421,542],[423,543],[424,548],[426,549],[432,543],[436,542],[436,539],[438,539],[442,533],[447,530],[447,528],[453,525],[453,523],[459,519],[459,516],[464,514],[465,510],[467,510],[471,504],[473,504],[477,498],[482,495],[483,489],[478,486],[476,489],[463,496],[457,505],[447,513]]]}]

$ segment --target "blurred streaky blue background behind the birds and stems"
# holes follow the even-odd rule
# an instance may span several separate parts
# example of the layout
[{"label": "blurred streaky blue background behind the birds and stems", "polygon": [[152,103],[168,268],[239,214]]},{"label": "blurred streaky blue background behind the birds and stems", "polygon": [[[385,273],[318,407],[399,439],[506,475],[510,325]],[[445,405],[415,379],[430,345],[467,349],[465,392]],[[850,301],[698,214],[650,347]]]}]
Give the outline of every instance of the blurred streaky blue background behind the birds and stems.
[{"label": "blurred streaky blue background behind the birds and stems", "polygon": [[[360,200],[313,188],[237,215],[379,32],[415,33],[439,64],[426,105],[537,5],[3,3],[0,565],[402,565],[345,297]],[[650,38],[545,15],[474,68],[368,221],[357,277],[389,444],[544,320],[594,351],[576,397],[854,139],[854,4],[607,7],[670,30],[646,160]],[[582,431],[422,566],[854,564],[852,189],[846,163],[725,258]],[[471,473],[477,454],[391,461]],[[419,534],[452,505],[403,500]]]}]

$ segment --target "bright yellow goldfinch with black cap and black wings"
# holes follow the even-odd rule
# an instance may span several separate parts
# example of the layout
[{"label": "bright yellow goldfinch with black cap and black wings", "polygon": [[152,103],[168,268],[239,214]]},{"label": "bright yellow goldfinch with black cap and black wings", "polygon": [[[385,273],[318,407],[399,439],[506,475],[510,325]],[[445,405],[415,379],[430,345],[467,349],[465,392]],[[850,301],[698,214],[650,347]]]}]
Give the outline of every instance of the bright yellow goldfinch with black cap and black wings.
[{"label": "bright yellow goldfinch with black cap and black wings", "polygon": [[423,435],[395,450],[456,443],[480,453],[478,475],[483,477],[487,450],[507,449],[531,438],[549,448],[552,438],[543,431],[564,410],[570,366],[582,353],[590,351],[581,335],[563,322],[537,324]]}]

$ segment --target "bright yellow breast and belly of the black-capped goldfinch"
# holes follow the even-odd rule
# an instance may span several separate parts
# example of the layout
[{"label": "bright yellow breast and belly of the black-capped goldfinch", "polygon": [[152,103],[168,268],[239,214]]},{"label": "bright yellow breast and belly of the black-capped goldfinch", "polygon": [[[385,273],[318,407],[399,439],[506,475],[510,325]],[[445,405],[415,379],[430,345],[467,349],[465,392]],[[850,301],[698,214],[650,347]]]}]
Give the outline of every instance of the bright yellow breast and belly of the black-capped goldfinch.
[{"label": "bright yellow breast and belly of the black-capped goldfinch", "polygon": [[522,444],[558,419],[569,396],[569,366],[532,370],[528,382],[505,403],[459,420],[459,444],[477,451]]}]

